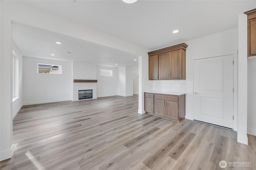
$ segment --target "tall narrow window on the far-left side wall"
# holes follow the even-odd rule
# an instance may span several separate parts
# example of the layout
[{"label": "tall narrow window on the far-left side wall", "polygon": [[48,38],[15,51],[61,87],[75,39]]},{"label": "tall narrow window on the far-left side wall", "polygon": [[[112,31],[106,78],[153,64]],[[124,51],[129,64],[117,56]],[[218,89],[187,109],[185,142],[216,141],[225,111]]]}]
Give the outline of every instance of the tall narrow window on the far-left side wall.
[{"label": "tall narrow window on the far-left side wall", "polygon": [[19,96],[19,59],[14,51],[12,51],[12,98]]}]

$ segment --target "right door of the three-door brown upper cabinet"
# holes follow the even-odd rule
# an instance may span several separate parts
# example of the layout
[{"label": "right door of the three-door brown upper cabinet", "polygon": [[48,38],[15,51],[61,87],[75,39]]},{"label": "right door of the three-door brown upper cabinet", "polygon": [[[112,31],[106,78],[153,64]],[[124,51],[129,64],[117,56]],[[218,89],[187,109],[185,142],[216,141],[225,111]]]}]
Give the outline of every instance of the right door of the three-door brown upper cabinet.
[{"label": "right door of the three-door brown upper cabinet", "polygon": [[170,79],[181,79],[182,78],[182,51],[176,50],[170,52]]}]

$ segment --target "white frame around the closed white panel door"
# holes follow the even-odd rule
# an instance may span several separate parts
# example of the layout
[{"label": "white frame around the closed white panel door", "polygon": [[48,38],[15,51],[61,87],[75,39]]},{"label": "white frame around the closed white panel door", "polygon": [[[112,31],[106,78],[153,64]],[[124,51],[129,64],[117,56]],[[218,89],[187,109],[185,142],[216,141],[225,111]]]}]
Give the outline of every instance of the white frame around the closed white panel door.
[{"label": "white frame around the closed white panel door", "polygon": [[[232,55],[233,60],[234,60],[234,66],[233,66],[233,88],[234,88],[234,93],[233,93],[233,129],[234,131],[237,131],[237,55],[234,54],[227,54],[227,55]],[[214,56],[214,57],[222,57],[226,55],[220,55],[220,56]],[[192,62],[192,80],[193,80],[193,89],[192,89],[192,120],[194,120],[194,61],[195,60],[200,60],[200,59],[209,59],[209,58],[214,58],[214,57],[205,57],[205,58],[198,58],[198,59],[191,59]]]}]

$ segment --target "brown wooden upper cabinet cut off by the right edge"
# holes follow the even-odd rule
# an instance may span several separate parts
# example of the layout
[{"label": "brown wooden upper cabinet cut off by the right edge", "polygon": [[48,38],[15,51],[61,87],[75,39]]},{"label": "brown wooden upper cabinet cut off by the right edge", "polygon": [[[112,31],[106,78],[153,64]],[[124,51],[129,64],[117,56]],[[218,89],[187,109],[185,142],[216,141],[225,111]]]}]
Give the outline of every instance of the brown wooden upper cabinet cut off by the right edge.
[{"label": "brown wooden upper cabinet cut off by the right edge", "polygon": [[256,56],[256,9],[244,12],[247,15],[247,53]]}]

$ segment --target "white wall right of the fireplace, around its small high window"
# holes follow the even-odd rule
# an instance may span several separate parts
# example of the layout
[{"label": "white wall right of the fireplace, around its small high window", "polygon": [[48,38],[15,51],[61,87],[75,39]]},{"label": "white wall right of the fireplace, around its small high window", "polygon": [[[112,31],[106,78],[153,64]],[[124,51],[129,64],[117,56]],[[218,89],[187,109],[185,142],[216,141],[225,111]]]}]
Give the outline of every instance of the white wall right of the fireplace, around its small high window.
[{"label": "white wall right of the fireplace, around its small high window", "polygon": [[[112,70],[112,77],[100,76],[100,69]],[[118,89],[118,68],[97,66],[97,97],[116,96]]]}]

